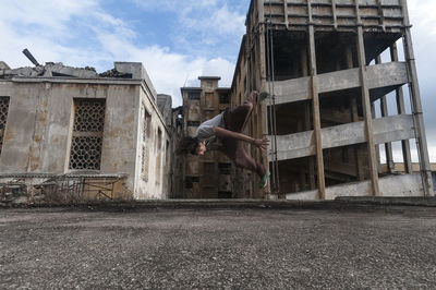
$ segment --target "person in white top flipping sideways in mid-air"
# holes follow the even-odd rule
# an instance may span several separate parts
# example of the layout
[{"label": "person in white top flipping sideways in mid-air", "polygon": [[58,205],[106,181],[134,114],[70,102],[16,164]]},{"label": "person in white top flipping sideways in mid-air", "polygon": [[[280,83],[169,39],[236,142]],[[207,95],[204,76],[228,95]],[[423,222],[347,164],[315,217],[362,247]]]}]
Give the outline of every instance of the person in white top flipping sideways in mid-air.
[{"label": "person in white top flipping sideways in mid-air", "polygon": [[227,155],[234,165],[256,172],[261,178],[259,188],[267,184],[269,172],[264,165],[255,161],[244,149],[243,142],[255,145],[257,148],[266,149],[269,145],[268,138],[253,138],[241,132],[244,131],[253,108],[257,101],[266,98],[267,94],[252,92],[244,104],[228,109],[213,119],[203,122],[194,137],[183,137],[179,142],[178,154],[204,155],[206,150],[219,150]]}]

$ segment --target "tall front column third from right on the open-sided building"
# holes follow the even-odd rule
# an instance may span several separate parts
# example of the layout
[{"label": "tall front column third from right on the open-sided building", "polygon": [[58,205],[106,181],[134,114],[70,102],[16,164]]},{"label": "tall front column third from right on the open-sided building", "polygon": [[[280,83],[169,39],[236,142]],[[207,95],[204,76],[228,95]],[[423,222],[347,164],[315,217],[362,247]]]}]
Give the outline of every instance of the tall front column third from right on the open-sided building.
[{"label": "tall front column third from right on the open-sided building", "polygon": [[316,51],[315,51],[315,27],[312,19],[312,4],[307,0],[308,13],[308,49],[310,49],[310,72],[312,84],[312,108],[315,132],[315,148],[316,148],[316,165],[318,176],[319,197],[326,200],[326,183],[324,178],[324,160],[323,160],[323,144],[320,140],[320,113],[319,113],[319,94],[318,94],[318,77],[316,70]]}]

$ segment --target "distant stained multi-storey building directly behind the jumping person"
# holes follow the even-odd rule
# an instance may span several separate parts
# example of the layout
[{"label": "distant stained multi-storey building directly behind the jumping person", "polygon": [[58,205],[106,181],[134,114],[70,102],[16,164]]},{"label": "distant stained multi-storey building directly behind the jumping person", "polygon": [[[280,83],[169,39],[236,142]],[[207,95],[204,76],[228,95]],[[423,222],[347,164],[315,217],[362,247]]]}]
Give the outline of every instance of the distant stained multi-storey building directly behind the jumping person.
[{"label": "distant stained multi-storey building directly behind the jumping person", "polygon": [[[230,102],[230,88],[219,87],[216,76],[201,76],[199,87],[182,87],[183,134],[195,136],[198,125],[226,110]],[[217,150],[204,156],[184,156],[184,198],[238,197],[234,190],[234,166]],[[232,179],[233,177],[233,179]]]}]

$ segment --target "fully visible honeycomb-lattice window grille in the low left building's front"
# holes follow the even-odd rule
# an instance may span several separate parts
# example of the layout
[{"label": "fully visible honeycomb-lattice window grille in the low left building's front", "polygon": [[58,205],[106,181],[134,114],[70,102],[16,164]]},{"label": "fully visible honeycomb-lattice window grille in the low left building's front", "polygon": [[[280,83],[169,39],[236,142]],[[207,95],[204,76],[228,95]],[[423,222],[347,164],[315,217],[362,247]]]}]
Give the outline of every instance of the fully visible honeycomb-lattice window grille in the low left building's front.
[{"label": "fully visible honeycomb-lattice window grille in the low left building's front", "polygon": [[105,99],[74,99],[70,169],[100,169],[105,111]]}]

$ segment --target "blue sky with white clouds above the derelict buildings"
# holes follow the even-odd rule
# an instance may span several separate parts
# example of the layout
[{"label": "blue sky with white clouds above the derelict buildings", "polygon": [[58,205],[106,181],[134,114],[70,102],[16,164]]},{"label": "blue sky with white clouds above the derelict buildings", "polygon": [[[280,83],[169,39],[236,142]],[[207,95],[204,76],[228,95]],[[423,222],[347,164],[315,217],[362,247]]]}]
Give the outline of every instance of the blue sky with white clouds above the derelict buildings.
[{"label": "blue sky with white clouds above the derelict buildings", "polygon": [[[436,162],[436,1],[409,0],[431,160]],[[250,0],[0,0],[0,60],[94,67],[142,62],[159,94],[181,105],[199,75],[230,86]],[[398,144],[397,144],[398,145]],[[398,150],[396,150],[398,153]],[[416,154],[414,154],[416,155]],[[416,159],[416,158],[414,158]]]}]

